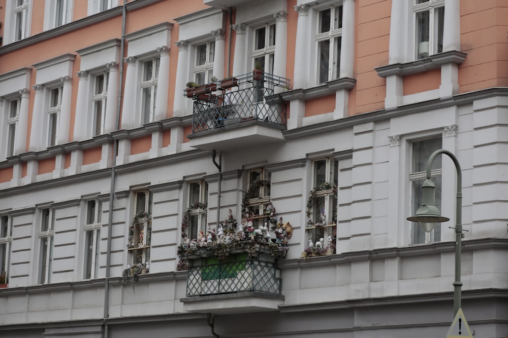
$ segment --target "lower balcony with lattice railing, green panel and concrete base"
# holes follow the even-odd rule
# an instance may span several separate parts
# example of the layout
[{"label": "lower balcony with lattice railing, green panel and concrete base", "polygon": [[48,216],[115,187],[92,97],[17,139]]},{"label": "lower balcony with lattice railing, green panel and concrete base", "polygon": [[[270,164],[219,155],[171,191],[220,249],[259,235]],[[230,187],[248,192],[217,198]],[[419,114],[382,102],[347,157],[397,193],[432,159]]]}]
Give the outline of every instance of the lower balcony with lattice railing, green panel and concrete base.
[{"label": "lower balcony with lattice railing, green panel and concrete base", "polygon": [[227,247],[219,245],[222,248],[215,253],[180,253],[189,264],[186,298],[180,299],[183,310],[214,314],[278,310],[284,297],[275,260],[285,251],[275,244],[251,243],[217,257],[217,250]]}]

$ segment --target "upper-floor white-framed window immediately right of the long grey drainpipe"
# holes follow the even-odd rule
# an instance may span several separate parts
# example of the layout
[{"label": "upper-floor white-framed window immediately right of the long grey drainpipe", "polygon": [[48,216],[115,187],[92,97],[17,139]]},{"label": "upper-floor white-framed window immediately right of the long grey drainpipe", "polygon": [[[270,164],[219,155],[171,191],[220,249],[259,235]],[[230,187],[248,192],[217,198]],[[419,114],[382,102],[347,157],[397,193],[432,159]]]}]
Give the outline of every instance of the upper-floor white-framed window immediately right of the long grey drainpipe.
[{"label": "upper-floor white-framed window immediately right of the long grey drainpipe", "polygon": [[[151,78],[145,80],[146,69],[148,62],[152,62],[152,74]],[[140,82],[140,97],[141,97],[141,124],[144,125],[146,123],[150,123],[154,121],[155,115],[155,101],[157,95],[157,82],[158,82],[158,69],[160,67],[161,57],[155,56],[150,59],[141,61],[141,82]],[[150,102],[149,102],[149,110],[145,109],[145,102],[147,100],[146,91],[149,90],[150,93]]]}]

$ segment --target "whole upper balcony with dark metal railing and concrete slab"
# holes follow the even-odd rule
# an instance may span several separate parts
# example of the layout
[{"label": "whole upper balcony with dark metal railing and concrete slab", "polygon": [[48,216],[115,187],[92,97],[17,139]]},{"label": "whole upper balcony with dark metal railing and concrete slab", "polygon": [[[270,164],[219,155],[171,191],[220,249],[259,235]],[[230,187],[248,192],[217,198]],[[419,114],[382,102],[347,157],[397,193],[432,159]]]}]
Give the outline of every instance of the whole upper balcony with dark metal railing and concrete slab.
[{"label": "whole upper balcony with dark metal railing and concrete slab", "polygon": [[193,99],[189,145],[205,150],[284,140],[286,103],[279,93],[290,80],[254,70],[185,90]]}]

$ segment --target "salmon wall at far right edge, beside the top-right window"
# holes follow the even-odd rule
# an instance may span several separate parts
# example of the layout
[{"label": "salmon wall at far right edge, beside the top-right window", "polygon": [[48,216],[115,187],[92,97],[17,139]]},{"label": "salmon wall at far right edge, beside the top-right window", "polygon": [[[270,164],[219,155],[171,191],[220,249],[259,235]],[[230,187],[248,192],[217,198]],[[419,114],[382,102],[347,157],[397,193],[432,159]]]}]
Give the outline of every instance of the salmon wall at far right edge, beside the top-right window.
[{"label": "salmon wall at far right edge, beside the top-right window", "polygon": [[508,2],[461,1],[460,92],[508,86]]}]

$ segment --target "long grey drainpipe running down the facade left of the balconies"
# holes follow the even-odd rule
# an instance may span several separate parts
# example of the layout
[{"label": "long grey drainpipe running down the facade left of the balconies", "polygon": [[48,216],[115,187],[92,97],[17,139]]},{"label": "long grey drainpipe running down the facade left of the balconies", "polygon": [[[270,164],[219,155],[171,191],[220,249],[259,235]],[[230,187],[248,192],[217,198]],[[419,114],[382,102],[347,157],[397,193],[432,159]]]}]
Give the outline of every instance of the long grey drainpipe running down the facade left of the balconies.
[{"label": "long grey drainpipe running down the facade left of the balconies", "polygon": [[[127,7],[125,6],[127,0],[123,0],[122,5],[122,36],[120,40],[120,62],[118,62],[118,102],[116,108],[116,130],[120,129],[120,112],[121,112],[121,103],[122,103],[122,84],[123,84],[123,54],[125,53],[125,22],[127,20]],[[112,81],[110,79],[110,81]],[[109,318],[109,278],[111,273],[111,238],[113,237],[113,207],[114,207],[114,198],[115,198],[115,184],[116,184],[116,173],[115,173],[115,165],[116,165],[116,153],[118,152],[118,140],[113,141],[113,159],[111,163],[111,184],[109,189],[109,209],[108,209],[108,240],[107,240],[107,250],[106,250],[106,277],[104,278],[104,317],[103,317],[103,325],[104,332],[102,334],[103,338],[109,338],[109,326],[106,321]]]}]

